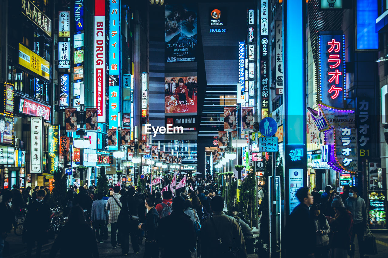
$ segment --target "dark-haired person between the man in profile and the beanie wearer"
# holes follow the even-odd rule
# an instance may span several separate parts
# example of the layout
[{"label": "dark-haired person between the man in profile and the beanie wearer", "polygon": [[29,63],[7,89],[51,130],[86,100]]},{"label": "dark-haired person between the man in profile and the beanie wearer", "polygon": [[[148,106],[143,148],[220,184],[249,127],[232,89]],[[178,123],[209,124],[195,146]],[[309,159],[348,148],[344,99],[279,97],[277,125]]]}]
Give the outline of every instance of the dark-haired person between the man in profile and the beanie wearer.
[{"label": "dark-haired person between the man in profile and the beanie wearer", "polygon": [[320,206],[317,203],[311,205],[310,216],[315,229],[314,258],[327,258],[329,255],[329,222],[320,212]]}]

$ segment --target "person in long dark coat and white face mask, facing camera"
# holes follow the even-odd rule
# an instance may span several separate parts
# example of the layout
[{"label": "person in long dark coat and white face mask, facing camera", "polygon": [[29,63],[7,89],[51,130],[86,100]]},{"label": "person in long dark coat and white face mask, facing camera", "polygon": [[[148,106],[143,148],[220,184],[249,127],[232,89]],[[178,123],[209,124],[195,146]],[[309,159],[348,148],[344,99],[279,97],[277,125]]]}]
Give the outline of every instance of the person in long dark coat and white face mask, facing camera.
[{"label": "person in long dark coat and white face mask, facing camera", "polygon": [[45,190],[40,189],[36,193],[36,200],[28,207],[26,219],[24,220],[24,229],[26,230],[27,239],[27,257],[31,257],[32,248],[36,245],[36,256],[40,257],[42,245],[47,241],[47,232],[50,226],[50,208],[43,199]]}]

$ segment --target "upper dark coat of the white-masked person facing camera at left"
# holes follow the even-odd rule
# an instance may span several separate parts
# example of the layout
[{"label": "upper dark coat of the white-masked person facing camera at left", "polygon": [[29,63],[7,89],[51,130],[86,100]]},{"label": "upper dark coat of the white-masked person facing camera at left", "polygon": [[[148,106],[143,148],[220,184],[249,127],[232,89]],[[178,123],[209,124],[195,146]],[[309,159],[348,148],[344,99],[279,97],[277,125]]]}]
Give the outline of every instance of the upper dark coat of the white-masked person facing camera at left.
[{"label": "upper dark coat of the white-masked person facing camera at left", "polygon": [[43,201],[35,200],[28,206],[24,228],[31,234],[45,232],[50,227],[50,216],[49,205]]}]

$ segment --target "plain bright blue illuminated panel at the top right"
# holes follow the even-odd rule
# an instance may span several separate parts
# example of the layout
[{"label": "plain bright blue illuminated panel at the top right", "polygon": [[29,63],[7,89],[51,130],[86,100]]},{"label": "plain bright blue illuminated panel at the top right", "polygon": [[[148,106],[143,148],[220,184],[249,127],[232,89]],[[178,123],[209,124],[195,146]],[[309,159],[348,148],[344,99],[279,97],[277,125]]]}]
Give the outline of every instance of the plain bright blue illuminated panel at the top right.
[{"label": "plain bright blue illuminated panel at the top right", "polygon": [[378,1],[357,0],[357,49],[379,48],[379,35],[376,32]]}]

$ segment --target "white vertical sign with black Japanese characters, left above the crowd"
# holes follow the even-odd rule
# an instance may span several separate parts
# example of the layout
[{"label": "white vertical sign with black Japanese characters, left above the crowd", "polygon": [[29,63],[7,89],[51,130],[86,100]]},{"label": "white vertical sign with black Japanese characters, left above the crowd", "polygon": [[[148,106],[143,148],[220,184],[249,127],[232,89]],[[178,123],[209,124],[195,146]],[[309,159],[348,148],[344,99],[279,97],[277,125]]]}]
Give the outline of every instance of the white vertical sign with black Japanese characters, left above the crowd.
[{"label": "white vertical sign with black Japanese characters, left above the crowd", "polygon": [[42,173],[43,117],[31,117],[31,173]]}]

